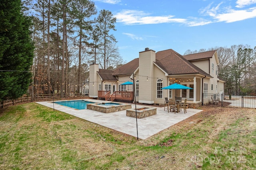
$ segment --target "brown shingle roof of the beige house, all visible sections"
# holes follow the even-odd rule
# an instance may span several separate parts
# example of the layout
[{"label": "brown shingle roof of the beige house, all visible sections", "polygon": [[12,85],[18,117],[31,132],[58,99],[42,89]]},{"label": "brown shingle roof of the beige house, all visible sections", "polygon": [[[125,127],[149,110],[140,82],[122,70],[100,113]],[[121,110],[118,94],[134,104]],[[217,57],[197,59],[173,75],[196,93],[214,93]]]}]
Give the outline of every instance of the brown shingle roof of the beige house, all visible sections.
[{"label": "brown shingle roof of the beige house, all visible sections", "polygon": [[[190,63],[192,60],[207,59],[213,57],[216,51],[207,51],[203,53],[196,53],[191,55],[182,56],[172,49],[158,51],[156,53],[156,62],[162,70],[168,75],[179,74],[202,74],[204,76],[210,76],[202,69],[198,68],[194,64]],[[189,61],[188,61],[189,59]],[[102,70],[98,72],[103,80],[117,80],[115,76],[118,75],[130,75],[139,67],[139,59],[134,59],[129,63],[122,65],[114,71]],[[108,73],[108,74],[106,74]]]}]

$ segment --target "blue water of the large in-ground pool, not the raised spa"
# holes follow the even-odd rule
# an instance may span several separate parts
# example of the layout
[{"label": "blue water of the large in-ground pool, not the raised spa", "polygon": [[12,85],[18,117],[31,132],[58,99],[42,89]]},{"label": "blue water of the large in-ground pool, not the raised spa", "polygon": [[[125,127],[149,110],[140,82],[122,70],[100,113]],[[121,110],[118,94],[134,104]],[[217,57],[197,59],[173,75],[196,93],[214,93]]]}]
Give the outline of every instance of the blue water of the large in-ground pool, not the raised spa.
[{"label": "blue water of the large in-ground pool, not the raised spa", "polygon": [[80,110],[80,109],[87,109],[87,104],[93,104],[95,102],[88,102],[84,100],[71,100],[71,101],[61,101],[61,102],[54,102],[54,103]]}]

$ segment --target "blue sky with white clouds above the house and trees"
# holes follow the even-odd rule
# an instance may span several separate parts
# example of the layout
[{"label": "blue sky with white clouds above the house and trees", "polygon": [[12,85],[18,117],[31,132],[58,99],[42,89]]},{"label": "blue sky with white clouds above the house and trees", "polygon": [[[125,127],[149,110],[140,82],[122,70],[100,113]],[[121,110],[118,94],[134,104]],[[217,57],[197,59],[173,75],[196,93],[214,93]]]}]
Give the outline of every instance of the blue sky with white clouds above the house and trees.
[{"label": "blue sky with white clouds above the house and trees", "polygon": [[93,0],[116,17],[124,61],[146,47],[181,55],[211,47],[256,46],[256,0]]}]

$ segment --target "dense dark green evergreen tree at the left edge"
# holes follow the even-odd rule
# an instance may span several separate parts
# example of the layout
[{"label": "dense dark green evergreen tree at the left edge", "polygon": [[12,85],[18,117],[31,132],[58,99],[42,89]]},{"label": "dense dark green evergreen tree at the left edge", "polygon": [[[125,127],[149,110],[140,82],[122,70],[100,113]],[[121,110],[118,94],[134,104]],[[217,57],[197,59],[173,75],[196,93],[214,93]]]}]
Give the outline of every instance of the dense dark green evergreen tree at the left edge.
[{"label": "dense dark green evergreen tree at the left edge", "polygon": [[21,11],[20,0],[0,3],[0,101],[19,98],[31,80],[34,45],[31,21]]}]

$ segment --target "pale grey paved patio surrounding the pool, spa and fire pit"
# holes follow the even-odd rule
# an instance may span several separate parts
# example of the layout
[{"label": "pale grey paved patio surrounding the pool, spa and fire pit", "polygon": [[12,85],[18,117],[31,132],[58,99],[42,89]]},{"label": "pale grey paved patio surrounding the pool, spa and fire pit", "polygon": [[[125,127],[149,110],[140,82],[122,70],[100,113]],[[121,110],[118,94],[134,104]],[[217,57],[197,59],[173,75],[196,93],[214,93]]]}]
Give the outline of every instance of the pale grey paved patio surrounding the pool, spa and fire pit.
[{"label": "pale grey paved patio surrounding the pool, spa and fire pit", "polygon": [[[86,101],[91,102],[102,102],[99,100],[85,99]],[[38,104],[53,108],[52,102],[36,102]],[[136,105],[137,108],[145,107],[142,105]],[[147,106],[149,107],[149,106]],[[132,108],[135,108],[135,105],[132,104]],[[93,111],[89,109],[72,109],[69,107],[60,106],[54,104],[54,109],[74,115],[81,119],[97,123],[99,125],[126,133],[137,137],[136,130],[136,118],[127,117],[126,110],[116,111],[112,113],[101,113],[98,111]],[[164,129],[202,111],[200,109],[187,109],[187,113],[184,114],[182,110],[179,113],[174,114],[174,112],[164,111],[164,107],[156,107],[156,115],[145,117],[142,119],[137,119],[138,121],[138,137],[140,139],[147,139],[148,137],[155,135],[156,133],[163,131]]]}]

